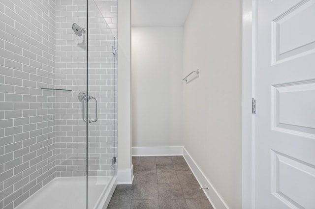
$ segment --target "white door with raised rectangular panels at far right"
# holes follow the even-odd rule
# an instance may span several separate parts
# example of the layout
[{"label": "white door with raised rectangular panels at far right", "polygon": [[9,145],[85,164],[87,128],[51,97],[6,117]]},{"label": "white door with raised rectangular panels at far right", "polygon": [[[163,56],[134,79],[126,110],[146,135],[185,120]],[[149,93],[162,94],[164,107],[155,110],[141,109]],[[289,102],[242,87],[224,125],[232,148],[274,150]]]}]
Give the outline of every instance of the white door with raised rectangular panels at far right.
[{"label": "white door with raised rectangular panels at far right", "polygon": [[315,209],[315,0],[257,0],[256,208]]}]

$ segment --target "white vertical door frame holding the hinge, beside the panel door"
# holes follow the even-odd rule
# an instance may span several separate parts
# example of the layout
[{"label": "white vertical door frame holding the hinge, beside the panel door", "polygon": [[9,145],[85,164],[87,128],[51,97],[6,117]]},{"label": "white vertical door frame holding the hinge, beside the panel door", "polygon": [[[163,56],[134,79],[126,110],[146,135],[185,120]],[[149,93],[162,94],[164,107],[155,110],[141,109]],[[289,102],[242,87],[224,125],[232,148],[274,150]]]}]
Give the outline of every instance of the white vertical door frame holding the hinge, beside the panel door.
[{"label": "white vertical door frame holding the hinge, beside the panel door", "polygon": [[255,209],[255,115],[251,109],[255,98],[256,14],[256,0],[243,0],[242,209]]}]

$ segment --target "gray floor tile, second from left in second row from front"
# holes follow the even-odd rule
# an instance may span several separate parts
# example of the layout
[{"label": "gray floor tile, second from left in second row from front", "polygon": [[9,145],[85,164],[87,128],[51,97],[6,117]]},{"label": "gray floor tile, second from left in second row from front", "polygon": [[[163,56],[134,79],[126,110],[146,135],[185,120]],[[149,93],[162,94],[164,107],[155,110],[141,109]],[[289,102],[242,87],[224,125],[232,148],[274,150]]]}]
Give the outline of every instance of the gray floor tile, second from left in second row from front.
[{"label": "gray floor tile, second from left in second row from front", "polygon": [[135,184],[132,199],[133,200],[158,199],[158,184],[157,183]]}]

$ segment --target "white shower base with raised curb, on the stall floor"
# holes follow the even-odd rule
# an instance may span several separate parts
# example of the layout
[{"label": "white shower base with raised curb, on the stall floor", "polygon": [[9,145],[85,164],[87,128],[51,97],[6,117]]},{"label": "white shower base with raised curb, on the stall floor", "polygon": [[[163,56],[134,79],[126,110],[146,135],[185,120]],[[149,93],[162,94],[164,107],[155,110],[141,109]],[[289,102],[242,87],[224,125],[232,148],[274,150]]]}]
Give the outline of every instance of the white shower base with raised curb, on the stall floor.
[{"label": "white shower base with raised curb, on the stall floor", "polygon": [[[88,178],[88,209],[106,209],[117,176]],[[57,177],[15,209],[86,209],[86,199],[86,177]]]}]

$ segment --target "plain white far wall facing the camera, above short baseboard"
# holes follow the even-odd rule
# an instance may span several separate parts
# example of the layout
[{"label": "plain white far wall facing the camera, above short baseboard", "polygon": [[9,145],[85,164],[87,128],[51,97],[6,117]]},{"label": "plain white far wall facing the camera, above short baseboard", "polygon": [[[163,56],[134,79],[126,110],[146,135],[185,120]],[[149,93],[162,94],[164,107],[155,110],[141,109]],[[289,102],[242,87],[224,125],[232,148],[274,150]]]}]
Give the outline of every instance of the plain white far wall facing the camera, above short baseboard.
[{"label": "plain white far wall facing the camera, above short baseboard", "polygon": [[132,147],[182,146],[182,27],[133,26]]}]

